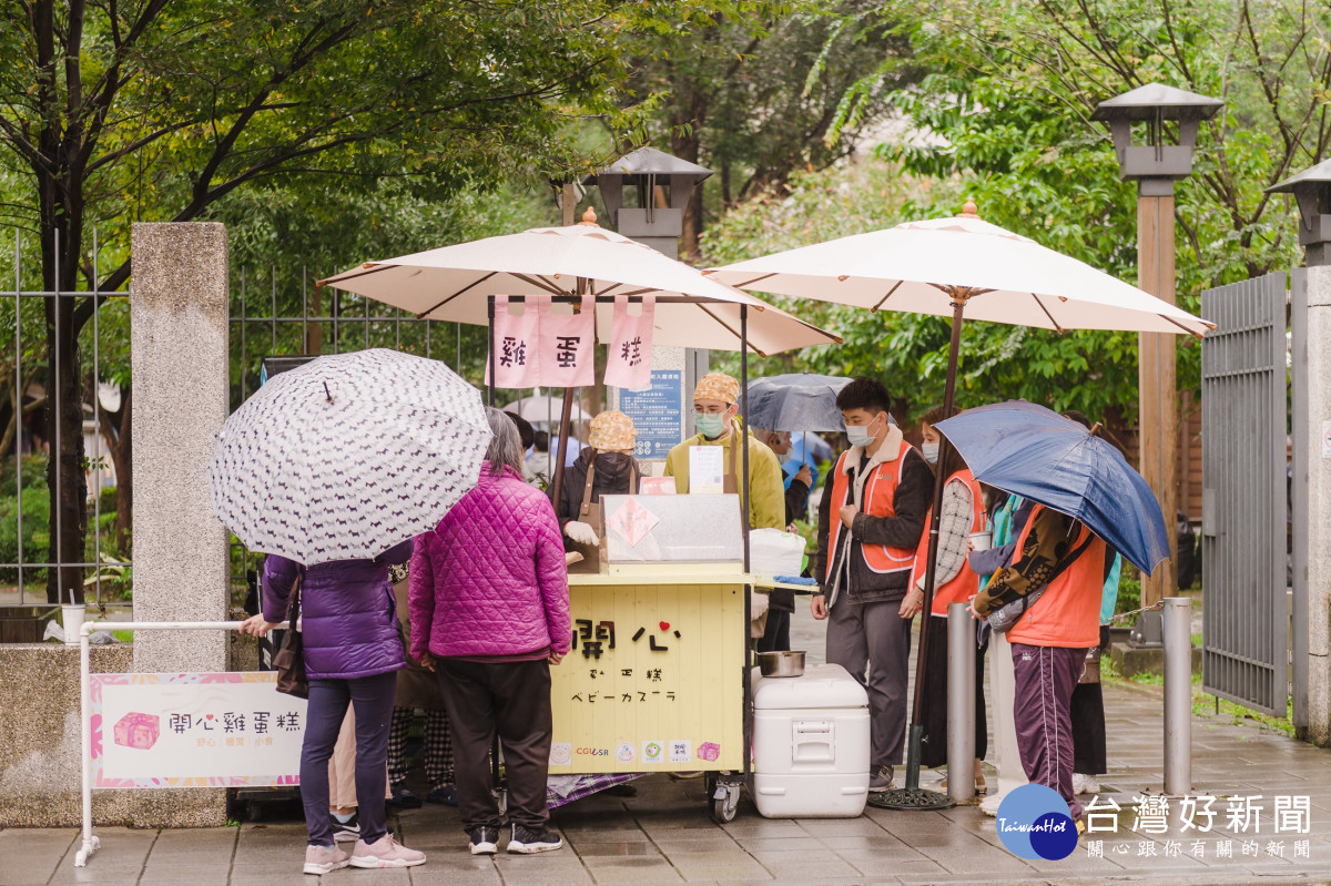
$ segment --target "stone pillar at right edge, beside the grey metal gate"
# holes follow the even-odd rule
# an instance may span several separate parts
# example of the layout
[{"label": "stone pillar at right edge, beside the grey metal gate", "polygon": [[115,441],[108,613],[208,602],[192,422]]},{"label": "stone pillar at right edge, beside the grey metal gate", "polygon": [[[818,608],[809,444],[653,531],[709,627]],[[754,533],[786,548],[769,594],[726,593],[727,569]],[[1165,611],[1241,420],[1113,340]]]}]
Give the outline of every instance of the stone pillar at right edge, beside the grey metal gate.
[{"label": "stone pillar at right edge, beside the grey metal gate", "polygon": [[1308,615],[1307,627],[1295,624],[1295,629],[1308,632],[1308,740],[1326,748],[1331,746],[1331,266],[1308,267],[1306,274],[1307,319],[1300,338],[1307,366],[1300,375],[1307,383],[1295,391],[1294,411],[1307,416],[1299,422],[1306,428],[1306,456],[1299,462],[1307,476],[1295,476],[1294,484],[1306,482],[1307,519],[1295,520],[1294,532],[1302,536],[1296,549],[1307,552]]}]

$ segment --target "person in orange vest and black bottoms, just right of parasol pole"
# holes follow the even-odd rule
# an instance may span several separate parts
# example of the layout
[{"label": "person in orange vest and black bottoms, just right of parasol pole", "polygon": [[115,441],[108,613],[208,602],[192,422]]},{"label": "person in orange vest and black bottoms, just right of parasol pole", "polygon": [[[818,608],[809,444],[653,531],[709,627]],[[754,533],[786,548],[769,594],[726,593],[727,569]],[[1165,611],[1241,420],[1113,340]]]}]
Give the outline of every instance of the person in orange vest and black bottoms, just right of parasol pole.
[{"label": "person in orange vest and black bottoms, just right of parasol pole", "polygon": [[[972,571],[966,561],[970,544],[970,533],[981,532],[985,528],[985,500],[980,483],[957,450],[948,447],[948,455],[938,464],[938,452],[942,438],[934,430],[934,424],[944,418],[950,418],[960,412],[952,408],[950,415],[945,415],[941,406],[936,406],[920,419],[920,432],[924,438],[924,458],[934,466],[934,471],[942,471],[946,484],[942,490],[942,517],[938,520],[938,565],[934,575],[933,604],[929,608],[929,617],[920,627],[929,632],[929,648],[925,652],[925,673],[928,674],[924,686],[924,704],[921,721],[924,725],[922,744],[920,745],[921,766],[942,766],[948,762],[948,605],[953,603],[970,603],[980,592],[980,576]],[[925,517],[925,533],[920,539],[916,549],[914,572],[910,576],[910,587],[922,592],[929,569],[929,532],[930,515]],[[968,616],[969,619],[969,616]],[[985,776],[982,761],[988,753],[989,724],[985,720],[985,659],[984,648],[976,655],[976,769],[974,781],[978,793],[985,793]],[[949,777],[965,778],[966,773],[950,773]]]}]

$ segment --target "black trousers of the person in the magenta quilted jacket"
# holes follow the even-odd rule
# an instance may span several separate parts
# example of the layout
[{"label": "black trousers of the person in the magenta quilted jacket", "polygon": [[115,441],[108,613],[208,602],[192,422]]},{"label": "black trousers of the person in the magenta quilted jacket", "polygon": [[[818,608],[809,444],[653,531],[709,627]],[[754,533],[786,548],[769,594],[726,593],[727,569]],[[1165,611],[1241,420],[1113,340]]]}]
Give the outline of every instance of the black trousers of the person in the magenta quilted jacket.
[{"label": "black trousers of the person in the magenta quilted jacket", "polygon": [[453,758],[462,826],[499,827],[499,804],[490,793],[490,746],[503,745],[508,818],[540,830],[550,821],[550,663],[490,664],[437,659],[439,689],[453,730]]}]

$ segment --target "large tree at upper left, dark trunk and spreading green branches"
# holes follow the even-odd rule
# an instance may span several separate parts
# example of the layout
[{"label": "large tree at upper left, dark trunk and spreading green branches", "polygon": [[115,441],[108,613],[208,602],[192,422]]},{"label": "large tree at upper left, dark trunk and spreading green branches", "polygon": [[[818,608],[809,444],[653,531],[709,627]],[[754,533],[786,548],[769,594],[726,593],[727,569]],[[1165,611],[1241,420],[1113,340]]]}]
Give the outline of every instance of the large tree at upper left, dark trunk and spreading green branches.
[{"label": "large tree at upper left, dark trunk and spreading green branches", "polygon": [[[36,231],[41,285],[124,285],[129,221],[190,221],[266,182],[410,181],[434,200],[512,170],[595,165],[563,137],[582,113],[631,122],[630,57],[695,3],[33,0],[0,19],[0,217]],[[647,101],[644,97],[642,101]],[[632,105],[630,109],[634,110]],[[85,233],[110,231],[93,281]],[[89,286],[91,289],[92,286]],[[80,334],[101,299],[47,299],[53,561],[84,541]],[[60,434],[56,434],[59,424]],[[61,520],[63,517],[63,520]],[[56,532],[56,525],[63,532]],[[53,571],[48,597],[81,585]]]}]

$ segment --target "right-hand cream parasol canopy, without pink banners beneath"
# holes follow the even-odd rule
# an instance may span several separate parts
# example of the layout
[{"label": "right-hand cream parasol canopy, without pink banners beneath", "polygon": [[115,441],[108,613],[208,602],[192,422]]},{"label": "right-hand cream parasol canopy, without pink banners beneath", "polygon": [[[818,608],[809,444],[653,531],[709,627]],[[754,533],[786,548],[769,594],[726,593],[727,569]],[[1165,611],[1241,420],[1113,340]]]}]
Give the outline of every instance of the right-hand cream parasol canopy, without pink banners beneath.
[{"label": "right-hand cream parasol canopy, without pink banners beneath", "polygon": [[953,218],[775,253],[709,271],[763,293],[870,310],[953,315],[952,289],[973,290],[966,319],[1041,329],[1203,335],[1214,323],[1085,262],[982,221],[974,204]]}]

